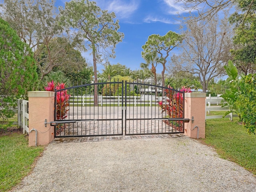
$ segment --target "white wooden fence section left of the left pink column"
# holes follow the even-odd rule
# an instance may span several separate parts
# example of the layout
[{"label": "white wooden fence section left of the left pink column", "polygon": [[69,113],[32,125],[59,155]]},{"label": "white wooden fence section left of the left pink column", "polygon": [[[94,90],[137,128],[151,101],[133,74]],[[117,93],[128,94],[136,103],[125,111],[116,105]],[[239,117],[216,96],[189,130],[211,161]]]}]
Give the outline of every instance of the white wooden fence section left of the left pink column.
[{"label": "white wooden fence section left of the left pink column", "polygon": [[23,134],[28,133],[28,101],[18,99],[18,126],[22,127]]}]

